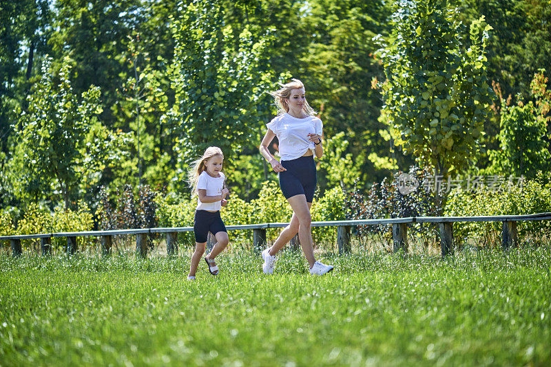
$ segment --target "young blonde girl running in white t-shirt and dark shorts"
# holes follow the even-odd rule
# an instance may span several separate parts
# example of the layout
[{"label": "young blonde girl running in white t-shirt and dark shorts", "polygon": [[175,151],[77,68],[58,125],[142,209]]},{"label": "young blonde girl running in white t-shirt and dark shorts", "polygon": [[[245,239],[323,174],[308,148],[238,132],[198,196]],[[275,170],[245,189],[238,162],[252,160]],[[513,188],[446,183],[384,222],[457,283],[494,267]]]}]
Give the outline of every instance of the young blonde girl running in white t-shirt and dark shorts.
[{"label": "young blonde girl running in white t-shirt and dark shorts", "polygon": [[214,276],[218,274],[218,265],[214,258],[225,249],[229,241],[226,226],[220,217],[220,208],[227,204],[225,198],[229,192],[227,188],[224,188],[223,161],[222,150],[217,146],[209,146],[202,157],[193,162],[191,170],[189,170],[192,196],[197,195],[198,197],[194,217],[195,252],[191,256],[191,265],[187,276],[189,280],[195,279],[199,261],[205,254],[209,232],[216,237],[216,244],[205,256],[205,262],[209,267],[209,272]]}]

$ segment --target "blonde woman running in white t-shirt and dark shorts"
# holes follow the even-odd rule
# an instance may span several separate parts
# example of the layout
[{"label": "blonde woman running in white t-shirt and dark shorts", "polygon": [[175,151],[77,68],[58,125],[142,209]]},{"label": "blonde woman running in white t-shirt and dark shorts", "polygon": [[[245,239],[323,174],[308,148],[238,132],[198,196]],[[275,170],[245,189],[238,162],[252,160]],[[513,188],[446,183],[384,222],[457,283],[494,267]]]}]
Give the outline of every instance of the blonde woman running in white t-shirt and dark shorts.
[{"label": "blonde woman running in white t-shirt and dark shorts", "polygon": [[[278,105],[278,115],[266,126],[268,131],[260,143],[260,154],[278,173],[280,188],[293,209],[291,223],[282,230],[273,245],[262,252],[264,264],[262,271],[273,274],[275,254],[298,233],[300,247],[310,266],[310,273],[323,275],[333,270],[315,260],[311,232],[312,206],[316,176],[315,156],[322,157],[322,120],[306,102],[304,85],[298,79],[282,85],[278,91],[271,92]],[[268,146],[277,136],[281,162],[270,154]]]}]

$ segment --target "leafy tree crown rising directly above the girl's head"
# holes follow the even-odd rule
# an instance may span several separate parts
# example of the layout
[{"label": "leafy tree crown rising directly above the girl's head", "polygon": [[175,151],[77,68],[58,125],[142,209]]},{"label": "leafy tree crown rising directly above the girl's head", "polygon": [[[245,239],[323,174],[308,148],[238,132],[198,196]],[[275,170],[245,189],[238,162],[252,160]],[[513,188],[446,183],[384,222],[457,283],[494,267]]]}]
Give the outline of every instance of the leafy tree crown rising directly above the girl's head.
[{"label": "leafy tree crown rising directly above the girl's head", "polygon": [[245,27],[235,39],[219,1],[185,5],[173,32],[176,103],[163,122],[178,121],[176,149],[182,174],[207,146],[219,146],[227,157],[237,157],[242,146],[252,143],[251,137],[269,116],[264,91],[275,78],[265,63],[270,35],[253,37]]}]

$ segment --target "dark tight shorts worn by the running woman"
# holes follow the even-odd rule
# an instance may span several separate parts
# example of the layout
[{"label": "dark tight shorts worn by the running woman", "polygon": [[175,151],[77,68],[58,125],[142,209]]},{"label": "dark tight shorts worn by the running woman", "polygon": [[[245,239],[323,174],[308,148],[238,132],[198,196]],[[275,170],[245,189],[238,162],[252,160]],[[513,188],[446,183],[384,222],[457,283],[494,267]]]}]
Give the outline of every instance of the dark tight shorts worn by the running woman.
[{"label": "dark tight shorts worn by the running woman", "polygon": [[306,196],[306,202],[311,203],[314,199],[315,185],[318,183],[313,155],[281,161],[281,165],[286,169],[278,175],[285,199],[303,194]]}]

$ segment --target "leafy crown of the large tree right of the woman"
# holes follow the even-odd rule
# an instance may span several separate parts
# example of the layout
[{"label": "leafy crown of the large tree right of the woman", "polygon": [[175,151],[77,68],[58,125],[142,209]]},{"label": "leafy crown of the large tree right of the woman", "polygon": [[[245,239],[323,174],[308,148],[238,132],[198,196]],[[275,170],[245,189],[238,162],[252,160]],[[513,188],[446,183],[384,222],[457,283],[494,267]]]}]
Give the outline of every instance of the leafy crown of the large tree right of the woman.
[{"label": "leafy crown of the large tree right of the woman", "polygon": [[384,115],[395,144],[447,177],[468,166],[492,102],[486,76],[484,17],[464,27],[448,2],[415,0],[396,5],[393,44],[380,51],[386,81]]}]

